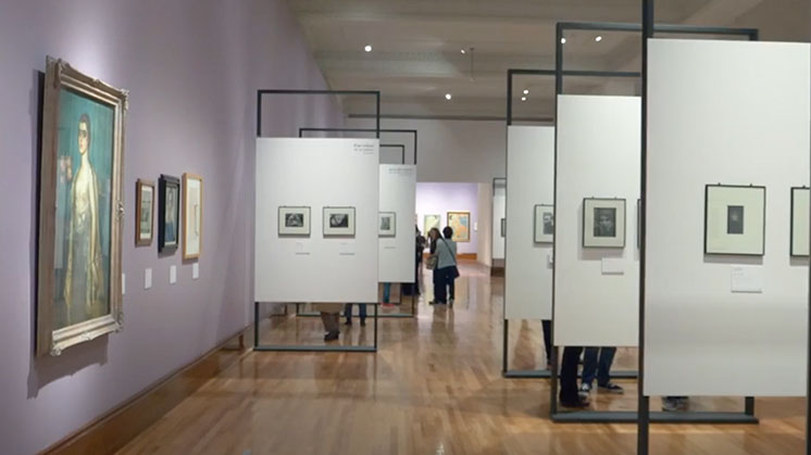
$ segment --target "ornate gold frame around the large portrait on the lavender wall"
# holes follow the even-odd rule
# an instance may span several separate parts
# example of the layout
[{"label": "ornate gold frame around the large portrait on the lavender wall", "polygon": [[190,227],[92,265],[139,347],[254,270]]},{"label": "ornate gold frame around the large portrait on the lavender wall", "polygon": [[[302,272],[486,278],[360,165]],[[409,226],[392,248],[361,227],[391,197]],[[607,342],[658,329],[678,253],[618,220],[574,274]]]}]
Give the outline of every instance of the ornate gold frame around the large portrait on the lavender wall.
[{"label": "ornate gold frame around the large portrait on the lavender wall", "polygon": [[[110,217],[110,314],[53,328],[55,274],[53,269],[57,206],[57,157],[59,152],[60,90],[70,88],[90,99],[105,103],[115,112]],[[127,111],[126,90],[116,89],[73,68],[67,62],[47,59],[42,105],[42,159],[40,162],[39,254],[37,282],[37,356],[61,355],[73,345],[120,331],[123,325],[121,252],[124,218],[124,115]],[[117,213],[115,213],[117,211]]]}]

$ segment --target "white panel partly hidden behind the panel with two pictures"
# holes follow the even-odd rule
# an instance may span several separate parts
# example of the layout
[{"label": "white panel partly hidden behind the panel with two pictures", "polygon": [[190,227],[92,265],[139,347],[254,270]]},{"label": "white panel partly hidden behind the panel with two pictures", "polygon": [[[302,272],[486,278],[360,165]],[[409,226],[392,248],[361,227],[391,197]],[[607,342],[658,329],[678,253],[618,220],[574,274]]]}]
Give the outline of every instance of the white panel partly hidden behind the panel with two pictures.
[{"label": "white panel partly hidden behind the panel with two pictures", "polygon": [[414,282],[416,236],[416,166],[380,165],[380,212],[394,212],[395,237],[379,238],[378,279],[380,282]]}]

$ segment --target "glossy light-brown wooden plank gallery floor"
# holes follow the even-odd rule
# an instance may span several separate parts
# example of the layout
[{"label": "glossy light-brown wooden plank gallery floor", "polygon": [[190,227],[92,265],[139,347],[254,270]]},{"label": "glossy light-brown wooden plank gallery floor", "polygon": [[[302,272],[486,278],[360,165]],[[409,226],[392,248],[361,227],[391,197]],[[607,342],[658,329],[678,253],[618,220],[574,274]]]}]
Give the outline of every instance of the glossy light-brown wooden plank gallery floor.
[{"label": "glossy light-brown wooden plank gallery floor", "polygon": [[[469,263],[457,287],[453,308],[426,299],[416,318],[380,319],[376,354],[248,353],[120,453],[636,453],[635,425],[552,424],[548,381],[501,378],[503,278]],[[408,301],[403,306],[410,311]],[[323,344],[320,324],[273,317],[262,343]],[[541,368],[540,325],[512,324],[510,367]],[[338,341],[372,342],[372,325],[358,320]],[[614,367],[634,369],[635,362],[621,350]],[[634,382],[621,383],[625,395],[597,395],[594,408],[635,409]],[[743,401],[694,399],[690,406],[737,410]],[[758,399],[758,426],[652,426],[650,453],[799,455],[804,406],[801,399]]]}]

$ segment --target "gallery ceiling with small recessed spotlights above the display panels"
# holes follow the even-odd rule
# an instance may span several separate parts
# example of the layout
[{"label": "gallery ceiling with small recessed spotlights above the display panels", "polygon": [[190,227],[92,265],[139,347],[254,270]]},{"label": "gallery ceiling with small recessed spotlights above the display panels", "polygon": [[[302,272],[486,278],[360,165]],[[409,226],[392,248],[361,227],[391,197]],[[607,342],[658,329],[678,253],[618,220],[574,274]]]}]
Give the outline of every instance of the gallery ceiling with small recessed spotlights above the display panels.
[{"label": "gallery ceiling with small recessed spotlights above the display panels", "polygon": [[[507,69],[553,68],[558,22],[639,23],[641,15],[641,0],[287,1],[330,87],[380,90],[386,116],[503,117]],[[811,40],[809,0],[658,0],[656,10],[660,24],[757,27],[763,40]],[[566,69],[639,71],[638,34],[606,33],[599,43],[596,36],[566,35]],[[565,81],[570,93],[638,90],[635,79]],[[552,78],[514,83],[516,116],[551,117]],[[521,102],[524,88],[531,93]],[[347,98],[344,109],[374,113],[365,99]]]}]

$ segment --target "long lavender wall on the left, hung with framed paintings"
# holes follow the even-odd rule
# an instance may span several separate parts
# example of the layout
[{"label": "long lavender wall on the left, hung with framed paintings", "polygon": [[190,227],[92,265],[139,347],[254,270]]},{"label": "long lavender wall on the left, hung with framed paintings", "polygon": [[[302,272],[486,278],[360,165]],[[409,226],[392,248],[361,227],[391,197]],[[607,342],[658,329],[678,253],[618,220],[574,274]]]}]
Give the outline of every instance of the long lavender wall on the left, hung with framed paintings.
[{"label": "long lavender wall on the left, hung with framed paintings", "polygon": [[[130,91],[126,295],[123,332],[35,361],[37,72],[47,54]],[[27,454],[249,324],[255,89],[325,84],[278,0],[3,0],[0,67],[0,452]],[[269,136],[341,123],[328,98],[275,100],[265,114]],[[135,180],[184,172],[204,179],[196,281],[179,252],[159,257],[132,240]]]}]

